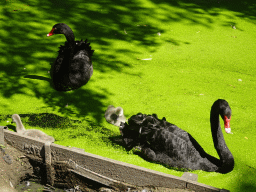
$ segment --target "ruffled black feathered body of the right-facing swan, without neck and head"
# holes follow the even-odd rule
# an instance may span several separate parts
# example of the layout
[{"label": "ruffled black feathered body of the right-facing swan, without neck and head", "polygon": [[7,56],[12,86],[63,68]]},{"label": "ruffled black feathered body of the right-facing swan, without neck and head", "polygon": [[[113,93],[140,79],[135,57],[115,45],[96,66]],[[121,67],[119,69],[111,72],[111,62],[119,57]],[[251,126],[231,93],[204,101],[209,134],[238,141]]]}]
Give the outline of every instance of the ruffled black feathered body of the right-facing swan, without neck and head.
[{"label": "ruffled black feathered body of the right-facing swan, without neck and head", "polygon": [[128,123],[129,125],[125,123],[120,127],[128,150],[140,145],[156,153],[151,160],[170,167],[217,170],[218,167],[211,161],[218,163],[219,160],[208,155],[189,133],[167,122],[165,118],[160,120],[156,114],[139,113],[132,116]]}]

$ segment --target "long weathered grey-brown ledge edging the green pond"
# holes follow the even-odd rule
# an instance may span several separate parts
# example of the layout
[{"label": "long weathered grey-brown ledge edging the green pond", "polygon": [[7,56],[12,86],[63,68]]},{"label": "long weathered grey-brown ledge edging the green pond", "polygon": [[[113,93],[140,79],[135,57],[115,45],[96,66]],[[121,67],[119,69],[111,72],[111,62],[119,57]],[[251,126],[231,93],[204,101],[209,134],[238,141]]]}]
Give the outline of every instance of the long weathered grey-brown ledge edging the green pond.
[{"label": "long weathered grey-brown ledge edging the green pond", "polygon": [[[46,163],[48,166],[50,163],[65,162],[72,172],[105,185],[110,186],[114,183],[127,183],[134,186],[151,185],[172,189],[191,189],[197,192],[221,191],[218,188],[192,181],[188,179],[189,177],[176,177],[83,152],[83,150],[77,150],[77,148],[68,148],[54,143],[44,143],[5,129],[0,130],[0,134],[2,133],[8,144],[22,151],[29,158]],[[0,135],[0,141],[1,137],[3,135]]]}]

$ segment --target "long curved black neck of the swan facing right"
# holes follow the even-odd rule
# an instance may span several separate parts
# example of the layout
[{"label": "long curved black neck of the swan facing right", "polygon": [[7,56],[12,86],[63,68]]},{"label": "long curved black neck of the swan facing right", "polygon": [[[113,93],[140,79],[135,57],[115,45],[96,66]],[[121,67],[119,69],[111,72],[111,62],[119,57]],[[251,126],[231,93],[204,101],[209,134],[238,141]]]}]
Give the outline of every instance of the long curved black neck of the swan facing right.
[{"label": "long curved black neck of the swan facing right", "polygon": [[[214,147],[220,157],[221,165],[217,172],[228,173],[234,168],[234,157],[228,149],[220,126],[220,105],[223,100],[217,100],[211,109],[211,131]],[[223,115],[223,114],[222,114]]]}]

